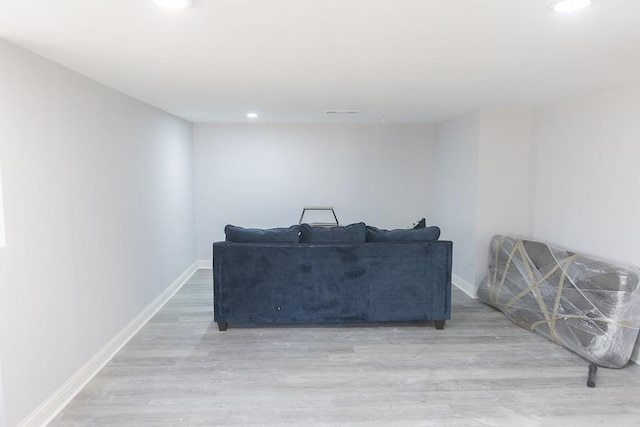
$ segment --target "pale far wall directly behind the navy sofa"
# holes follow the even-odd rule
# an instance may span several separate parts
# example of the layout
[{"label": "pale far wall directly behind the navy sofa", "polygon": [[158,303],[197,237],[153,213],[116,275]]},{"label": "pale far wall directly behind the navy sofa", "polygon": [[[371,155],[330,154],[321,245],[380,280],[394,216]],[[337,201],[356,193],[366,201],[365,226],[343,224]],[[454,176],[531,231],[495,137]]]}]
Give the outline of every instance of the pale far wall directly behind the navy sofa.
[{"label": "pale far wall directly behind the navy sofa", "polygon": [[289,226],[306,205],[382,228],[429,216],[431,126],[195,124],[194,144],[199,259],[226,224]]}]

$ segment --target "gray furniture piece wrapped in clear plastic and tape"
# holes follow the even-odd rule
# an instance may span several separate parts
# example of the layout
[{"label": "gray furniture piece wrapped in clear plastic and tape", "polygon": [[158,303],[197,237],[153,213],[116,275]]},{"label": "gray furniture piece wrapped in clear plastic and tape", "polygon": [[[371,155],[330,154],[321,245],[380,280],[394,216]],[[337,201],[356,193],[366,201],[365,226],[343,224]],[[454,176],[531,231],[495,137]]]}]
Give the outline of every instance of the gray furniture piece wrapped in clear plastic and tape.
[{"label": "gray furniture piece wrapped in clear plastic and tape", "polygon": [[495,236],[478,297],[600,366],[625,366],[638,337],[640,269],[542,242]]}]

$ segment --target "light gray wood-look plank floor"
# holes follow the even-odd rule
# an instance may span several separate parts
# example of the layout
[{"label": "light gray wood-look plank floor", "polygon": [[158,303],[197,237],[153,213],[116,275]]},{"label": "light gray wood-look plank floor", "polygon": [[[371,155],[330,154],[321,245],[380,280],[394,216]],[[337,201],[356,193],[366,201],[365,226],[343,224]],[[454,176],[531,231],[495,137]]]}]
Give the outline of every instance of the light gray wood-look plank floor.
[{"label": "light gray wood-look plank floor", "polygon": [[51,426],[638,426],[640,366],[598,370],[454,290],[432,323],[213,323],[199,270]]}]

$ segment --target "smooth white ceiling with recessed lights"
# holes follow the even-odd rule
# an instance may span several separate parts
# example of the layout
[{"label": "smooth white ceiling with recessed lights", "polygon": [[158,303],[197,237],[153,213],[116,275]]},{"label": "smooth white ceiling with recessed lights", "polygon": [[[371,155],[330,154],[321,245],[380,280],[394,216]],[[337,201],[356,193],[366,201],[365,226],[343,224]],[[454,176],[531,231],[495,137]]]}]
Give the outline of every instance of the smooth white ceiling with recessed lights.
[{"label": "smooth white ceiling with recessed lights", "polygon": [[549,3],[0,0],[0,37],[194,122],[434,123],[640,80],[639,0]]}]

